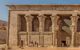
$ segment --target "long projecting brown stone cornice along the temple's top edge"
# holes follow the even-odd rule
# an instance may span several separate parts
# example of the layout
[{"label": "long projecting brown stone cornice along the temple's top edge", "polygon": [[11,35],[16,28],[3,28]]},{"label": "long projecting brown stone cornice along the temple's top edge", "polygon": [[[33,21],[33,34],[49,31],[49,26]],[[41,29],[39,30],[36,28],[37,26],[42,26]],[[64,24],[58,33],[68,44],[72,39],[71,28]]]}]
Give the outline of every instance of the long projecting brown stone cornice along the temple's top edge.
[{"label": "long projecting brown stone cornice along the temple's top edge", "polygon": [[9,10],[58,10],[58,11],[72,11],[80,10],[80,5],[8,5]]}]

